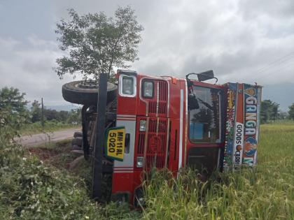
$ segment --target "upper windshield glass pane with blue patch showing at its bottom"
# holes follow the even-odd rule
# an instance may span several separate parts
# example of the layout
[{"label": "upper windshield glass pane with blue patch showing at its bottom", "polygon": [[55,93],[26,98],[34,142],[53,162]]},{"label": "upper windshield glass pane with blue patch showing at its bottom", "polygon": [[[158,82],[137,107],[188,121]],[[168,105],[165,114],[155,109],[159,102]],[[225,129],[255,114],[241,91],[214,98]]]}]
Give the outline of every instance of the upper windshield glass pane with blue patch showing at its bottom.
[{"label": "upper windshield glass pane with blue patch showing at its bottom", "polygon": [[191,142],[221,142],[221,89],[193,86],[188,98]]}]

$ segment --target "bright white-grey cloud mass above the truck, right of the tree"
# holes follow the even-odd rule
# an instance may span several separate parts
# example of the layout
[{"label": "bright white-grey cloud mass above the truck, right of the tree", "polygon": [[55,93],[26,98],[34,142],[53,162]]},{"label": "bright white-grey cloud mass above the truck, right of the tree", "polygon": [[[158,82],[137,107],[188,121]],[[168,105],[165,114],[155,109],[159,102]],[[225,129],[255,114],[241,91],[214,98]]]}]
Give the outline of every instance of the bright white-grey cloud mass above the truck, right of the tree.
[{"label": "bright white-grey cloud mass above the truck, right of the tree", "polygon": [[[78,13],[104,11],[112,16],[118,6],[130,5],[145,30],[140,60],[133,68],[152,75],[177,75],[214,69],[220,82],[274,84],[294,80],[294,3],[281,1],[53,1],[55,17],[66,8]],[[272,68],[265,68],[270,66]],[[263,69],[265,68],[265,69]],[[260,71],[262,69],[262,71]]]}]

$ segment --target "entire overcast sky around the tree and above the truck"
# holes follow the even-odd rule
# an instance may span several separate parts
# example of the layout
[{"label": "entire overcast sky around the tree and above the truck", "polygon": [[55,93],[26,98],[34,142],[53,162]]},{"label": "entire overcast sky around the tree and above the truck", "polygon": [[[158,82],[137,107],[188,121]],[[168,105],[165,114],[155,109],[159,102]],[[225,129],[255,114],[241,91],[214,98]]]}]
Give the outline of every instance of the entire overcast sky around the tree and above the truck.
[{"label": "entire overcast sky around the tree and above the truck", "polygon": [[294,1],[14,1],[0,0],[0,87],[17,87],[33,101],[66,104],[52,71],[62,55],[56,22],[78,13],[130,5],[143,25],[139,61],[132,69],[184,77],[209,69],[225,82],[258,82],[262,98],[287,110],[294,103]]}]

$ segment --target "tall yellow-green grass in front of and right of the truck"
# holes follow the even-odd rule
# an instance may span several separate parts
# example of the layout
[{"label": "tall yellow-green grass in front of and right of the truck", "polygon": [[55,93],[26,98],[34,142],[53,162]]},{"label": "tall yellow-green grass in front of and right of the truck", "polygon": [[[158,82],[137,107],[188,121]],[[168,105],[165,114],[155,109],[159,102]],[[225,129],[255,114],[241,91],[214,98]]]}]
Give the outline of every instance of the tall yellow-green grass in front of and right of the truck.
[{"label": "tall yellow-green grass in front of and right of the truck", "polygon": [[146,185],[144,219],[294,219],[294,124],[261,126],[258,166],[178,179],[155,173]]}]

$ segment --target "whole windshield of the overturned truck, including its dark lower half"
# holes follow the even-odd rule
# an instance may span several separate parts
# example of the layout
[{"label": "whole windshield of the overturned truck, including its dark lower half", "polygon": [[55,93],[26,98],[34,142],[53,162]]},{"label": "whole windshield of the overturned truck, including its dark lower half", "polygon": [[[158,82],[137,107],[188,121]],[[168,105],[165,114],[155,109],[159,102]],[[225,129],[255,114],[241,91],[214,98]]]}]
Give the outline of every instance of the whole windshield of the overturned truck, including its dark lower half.
[{"label": "whole windshield of the overturned truck, including its dark lower half", "polygon": [[187,166],[210,174],[221,168],[223,160],[224,89],[195,82],[189,90]]}]

